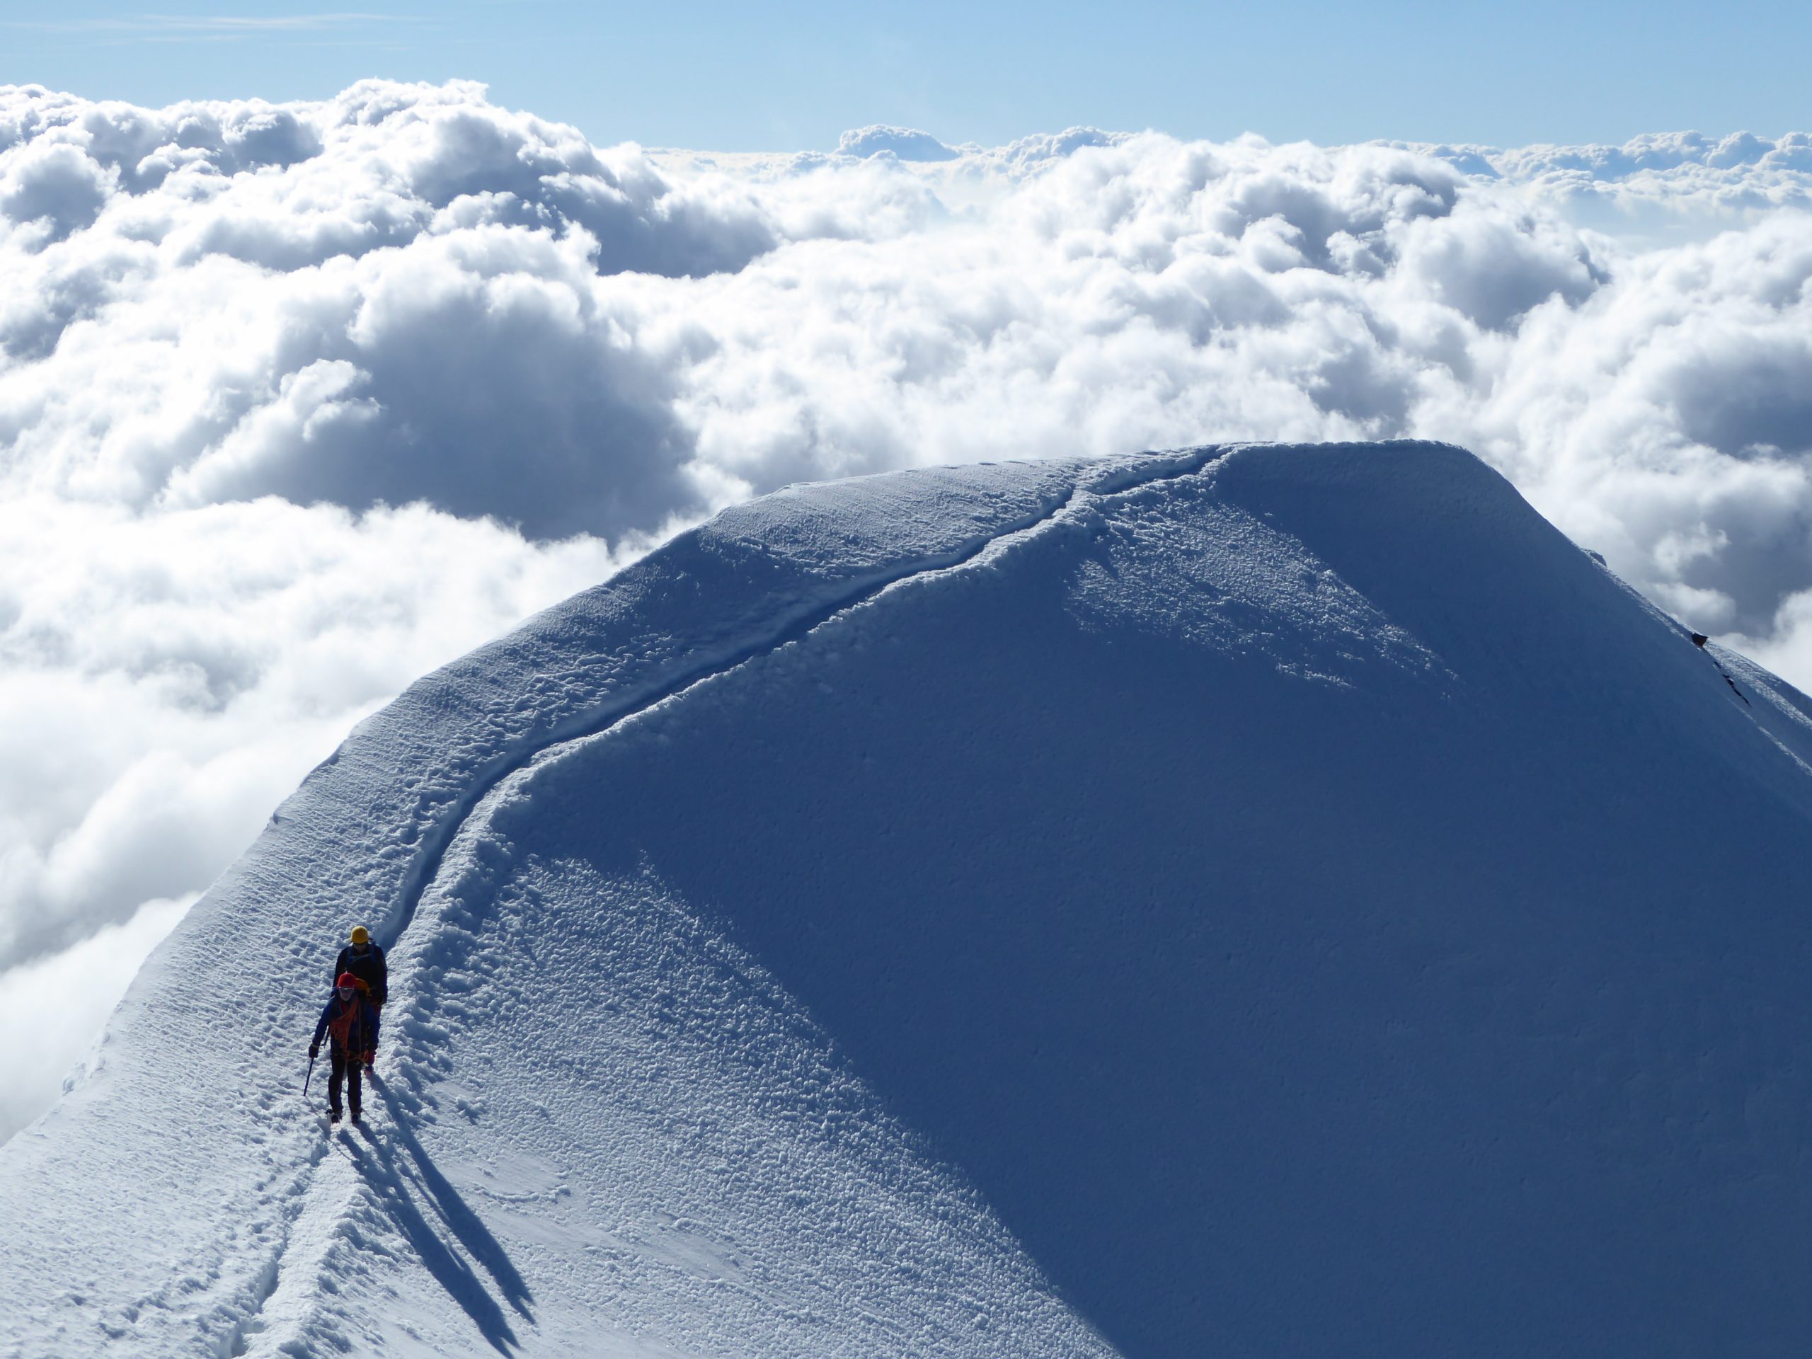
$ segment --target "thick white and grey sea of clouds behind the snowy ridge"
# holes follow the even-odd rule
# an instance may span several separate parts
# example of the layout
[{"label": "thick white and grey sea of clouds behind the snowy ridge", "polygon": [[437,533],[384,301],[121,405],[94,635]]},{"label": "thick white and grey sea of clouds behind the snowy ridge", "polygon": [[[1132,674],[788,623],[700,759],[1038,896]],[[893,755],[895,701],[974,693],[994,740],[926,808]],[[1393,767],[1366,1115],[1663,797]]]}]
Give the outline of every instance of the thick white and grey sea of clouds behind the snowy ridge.
[{"label": "thick white and grey sea of clouds behind the snowy ridge", "polygon": [[710,156],[0,87],[0,1136],[355,719],[786,482],[1448,439],[1812,683],[1808,277],[1805,134]]}]

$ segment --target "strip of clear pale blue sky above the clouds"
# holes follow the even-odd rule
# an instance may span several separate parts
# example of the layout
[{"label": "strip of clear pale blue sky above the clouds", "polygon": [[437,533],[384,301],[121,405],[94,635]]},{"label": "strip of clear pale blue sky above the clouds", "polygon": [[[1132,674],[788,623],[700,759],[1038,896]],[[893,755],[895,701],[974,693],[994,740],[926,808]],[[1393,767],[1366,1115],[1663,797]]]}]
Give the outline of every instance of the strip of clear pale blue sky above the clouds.
[{"label": "strip of clear pale blue sky above the clouds", "polygon": [[1524,145],[1812,125],[1812,5],[341,7],[4,0],[0,82],[89,98],[319,98],[361,76],[484,80],[598,143],[832,147],[888,121],[997,145],[1073,123],[1321,143]]}]

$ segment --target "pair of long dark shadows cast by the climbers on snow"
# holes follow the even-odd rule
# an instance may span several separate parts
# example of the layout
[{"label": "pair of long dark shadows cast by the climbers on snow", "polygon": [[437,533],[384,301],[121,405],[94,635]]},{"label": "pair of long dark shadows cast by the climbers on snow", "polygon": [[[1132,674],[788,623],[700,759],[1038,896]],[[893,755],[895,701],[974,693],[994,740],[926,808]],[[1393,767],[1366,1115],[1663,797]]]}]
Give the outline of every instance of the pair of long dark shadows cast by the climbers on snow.
[{"label": "pair of long dark shadows cast by the climbers on snow", "polygon": [[531,1325],[535,1314],[529,1312],[529,1303],[535,1296],[498,1239],[440,1174],[410,1131],[408,1111],[397,1104],[384,1082],[371,1078],[370,1089],[384,1102],[388,1120],[382,1129],[370,1131],[364,1142],[350,1143],[353,1160],[428,1272],[440,1281],[498,1354],[511,1354],[518,1348],[518,1341],[509,1317],[467,1258],[491,1276],[504,1301]]}]

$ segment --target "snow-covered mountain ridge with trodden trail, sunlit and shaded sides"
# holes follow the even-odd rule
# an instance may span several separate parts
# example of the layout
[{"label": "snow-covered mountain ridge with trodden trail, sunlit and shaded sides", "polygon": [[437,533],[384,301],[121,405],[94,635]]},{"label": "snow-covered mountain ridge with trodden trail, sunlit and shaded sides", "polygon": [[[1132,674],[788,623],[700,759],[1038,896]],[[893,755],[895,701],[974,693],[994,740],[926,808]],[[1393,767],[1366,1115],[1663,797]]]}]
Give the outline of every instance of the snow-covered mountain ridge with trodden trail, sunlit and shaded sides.
[{"label": "snow-covered mountain ridge with trodden trail, sunlit and shaded sides", "polygon": [[1798,1354],[1808,710],[1451,448],[770,496],[281,808],[0,1152],[0,1334]]}]

